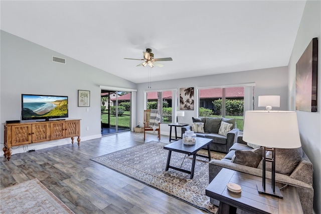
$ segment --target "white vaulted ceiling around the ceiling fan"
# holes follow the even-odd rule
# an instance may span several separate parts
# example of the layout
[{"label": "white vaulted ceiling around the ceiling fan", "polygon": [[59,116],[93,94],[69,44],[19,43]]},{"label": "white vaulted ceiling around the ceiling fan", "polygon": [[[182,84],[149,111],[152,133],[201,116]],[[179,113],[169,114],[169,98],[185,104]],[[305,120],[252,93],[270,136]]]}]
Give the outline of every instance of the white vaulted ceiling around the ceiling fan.
[{"label": "white vaulted ceiling around the ceiling fan", "polygon": [[[286,66],[305,1],[1,1],[1,29],[135,83]],[[68,63],[68,62],[67,62]]]}]

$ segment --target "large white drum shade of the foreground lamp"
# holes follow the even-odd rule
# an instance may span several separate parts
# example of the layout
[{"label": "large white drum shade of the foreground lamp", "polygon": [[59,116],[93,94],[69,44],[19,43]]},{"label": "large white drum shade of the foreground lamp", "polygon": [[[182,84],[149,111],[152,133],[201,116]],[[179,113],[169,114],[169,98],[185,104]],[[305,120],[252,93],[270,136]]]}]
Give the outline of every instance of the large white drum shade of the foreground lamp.
[{"label": "large white drum shade of the foreground lamp", "polygon": [[296,112],[246,111],[243,140],[264,147],[299,148],[301,141]]}]

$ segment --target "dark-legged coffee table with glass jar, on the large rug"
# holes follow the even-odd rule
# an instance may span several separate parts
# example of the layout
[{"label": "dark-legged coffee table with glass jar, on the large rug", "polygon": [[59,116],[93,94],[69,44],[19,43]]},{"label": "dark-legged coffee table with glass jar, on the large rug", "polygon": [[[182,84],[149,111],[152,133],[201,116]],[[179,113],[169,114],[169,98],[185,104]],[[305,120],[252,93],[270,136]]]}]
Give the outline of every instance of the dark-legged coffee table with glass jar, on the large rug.
[{"label": "dark-legged coffee table with glass jar, on the large rug", "polygon": [[[208,158],[209,161],[211,161],[210,143],[212,143],[212,139],[197,137],[195,145],[185,145],[185,144],[183,144],[183,140],[179,140],[179,141],[176,141],[174,143],[164,146],[164,149],[169,150],[169,155],[167,157],[166,171],[168,171],[169,168],[175,169],[175,170],[178,170],[181,172],[191,174],[191,179],[193,179],[196,156],[205,157],[205,158]],[[207,146],[208,156],[197,154],[197,152],[199,150],[201,150],[202,148],[204,148],[206,146]],[[171,161],[172,151],[184,153],[184,154],[187,154],[188,156],[193,155],[192,170],[188,171],[188,170],[181,169],[181,168],[178,168],[175,166],[171,166],[170,161]]]}]

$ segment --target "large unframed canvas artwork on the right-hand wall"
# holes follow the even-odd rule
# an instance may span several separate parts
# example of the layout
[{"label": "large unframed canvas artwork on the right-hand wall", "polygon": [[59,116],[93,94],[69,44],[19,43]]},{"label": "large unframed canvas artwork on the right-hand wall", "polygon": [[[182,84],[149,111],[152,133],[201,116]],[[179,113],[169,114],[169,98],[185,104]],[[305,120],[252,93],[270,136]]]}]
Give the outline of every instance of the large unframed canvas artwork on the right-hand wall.
[{"label": "large unframed canvas artwork on the right-hand wall", "polygon": [[317,38],[313,38],[296,63],[295,109],[317,111]]}]

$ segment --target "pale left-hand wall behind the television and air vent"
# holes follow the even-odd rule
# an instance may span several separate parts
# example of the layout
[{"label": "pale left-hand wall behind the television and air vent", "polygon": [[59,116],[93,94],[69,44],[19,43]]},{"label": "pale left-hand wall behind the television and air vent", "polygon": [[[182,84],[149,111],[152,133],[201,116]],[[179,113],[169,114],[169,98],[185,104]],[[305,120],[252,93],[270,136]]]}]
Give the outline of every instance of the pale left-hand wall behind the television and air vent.
[{"label": "pale left-hand wall behind the television and air vent", "polygon": [[[52,56],[66,58],[66,64],[52,62]],[[99,138],[99,85],[136,88],[133,82],[1,31],[1,123],[20,120],[22,93],[66,95],[69,118],[81,119],[81,140]],[[79,89],[90,91],[90,107],[78,107]],[[88,131],[86,127],[89,127]],[[0,132],[0,142],[3,144],[3,126]],[[40,149],[70,142],[65,139],[35,144],[34,147]],[[32,148],[30,145],[29,149]],[[22,148],[13,150],[13,154],[22,151]]]}]

